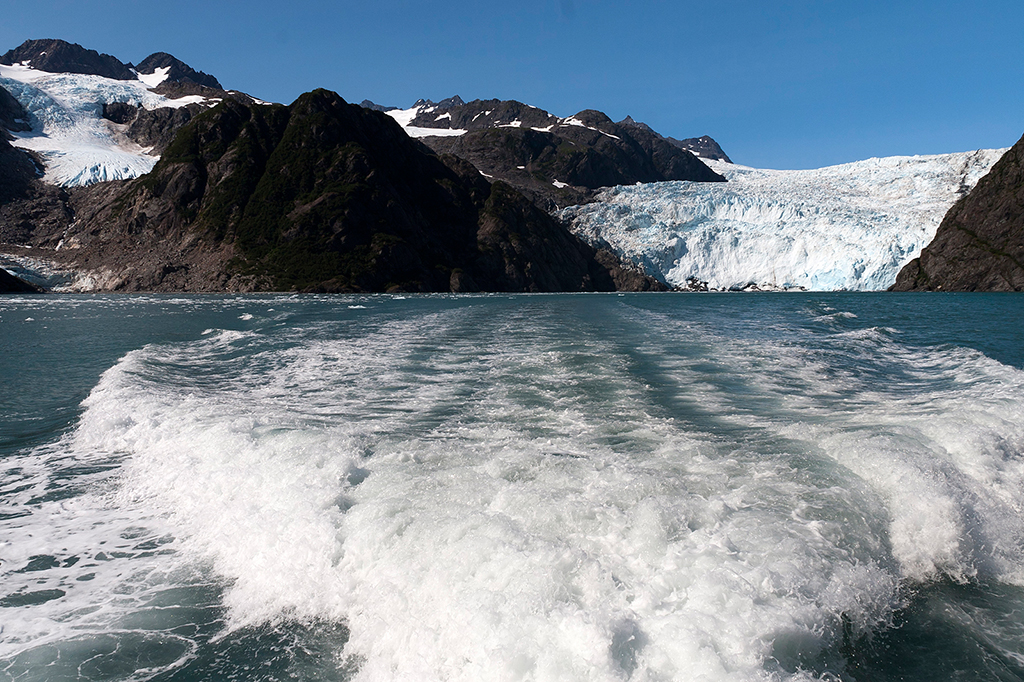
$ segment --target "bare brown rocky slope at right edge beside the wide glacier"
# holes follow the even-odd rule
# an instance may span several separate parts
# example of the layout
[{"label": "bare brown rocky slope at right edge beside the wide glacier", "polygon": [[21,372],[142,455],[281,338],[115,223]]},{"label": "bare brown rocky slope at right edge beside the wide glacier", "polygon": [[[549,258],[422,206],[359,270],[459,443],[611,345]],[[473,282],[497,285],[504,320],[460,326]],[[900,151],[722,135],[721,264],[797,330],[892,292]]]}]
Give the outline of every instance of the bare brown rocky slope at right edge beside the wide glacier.
[{"label": "bare brown rocky slope at right edge beside the wide glacier", "polygon": [[894,291],[1024,291],[1024,137],[946,213]]}]

